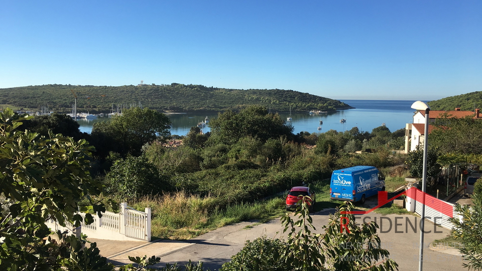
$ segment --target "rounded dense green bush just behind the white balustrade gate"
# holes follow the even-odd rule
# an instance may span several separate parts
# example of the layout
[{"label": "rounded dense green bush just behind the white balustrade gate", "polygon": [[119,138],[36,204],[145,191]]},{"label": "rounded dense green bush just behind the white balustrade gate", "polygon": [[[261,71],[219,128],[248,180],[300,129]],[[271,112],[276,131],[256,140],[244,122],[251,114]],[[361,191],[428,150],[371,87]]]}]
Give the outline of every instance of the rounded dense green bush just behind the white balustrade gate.
[{"label": "rounded dense green bush just behind the white balustrade gate", "polygon": [[170,191],[169,178],[144,157],[128,157],[114,162],[106,179],[117,195],[138,198]]}]

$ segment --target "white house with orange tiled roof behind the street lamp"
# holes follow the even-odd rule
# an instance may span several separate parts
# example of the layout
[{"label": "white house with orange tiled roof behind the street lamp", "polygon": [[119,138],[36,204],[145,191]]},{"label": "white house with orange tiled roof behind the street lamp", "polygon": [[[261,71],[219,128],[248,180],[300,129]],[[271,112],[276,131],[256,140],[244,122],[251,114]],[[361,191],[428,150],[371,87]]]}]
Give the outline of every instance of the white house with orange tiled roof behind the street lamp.
[{"label": "white house with orange tiled roof behind the street lamp", "polygon": [[[472,116],[473,119],[482,119],[480,109],[473,111],[461,111],[460,108],[455,110],[433,110],[428,115],[428,133],[430,134],[435,128],[435,125],[430,123],[435,122],[437,118],[464,118]],[[417,111],[413,115],[413,123],[407,123],[405,126],[405,153],[415,151],[418,145],[423,145],[425,137],[425,111]]]}]

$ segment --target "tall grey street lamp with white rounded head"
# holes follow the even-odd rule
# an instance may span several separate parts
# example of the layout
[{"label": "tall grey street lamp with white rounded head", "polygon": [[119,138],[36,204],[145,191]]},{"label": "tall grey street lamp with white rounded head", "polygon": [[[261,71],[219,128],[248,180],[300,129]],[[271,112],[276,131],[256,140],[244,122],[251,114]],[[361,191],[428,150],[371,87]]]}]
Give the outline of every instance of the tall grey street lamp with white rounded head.
[{"label": "tall grey street lamp with white rounded head", "polygon": [[422,271],[423,265],[423,231],[425,224],[425,187],[427,185],[427,139],[428,139],[428,114],[430,107],[423,101],[416,101],[412,104],[412,108],[416,110],[425,110],[425,131],[423,137],[423,173],[422,173],[422,213],[420,221],[420,252],[418,261],[418,270]]}]

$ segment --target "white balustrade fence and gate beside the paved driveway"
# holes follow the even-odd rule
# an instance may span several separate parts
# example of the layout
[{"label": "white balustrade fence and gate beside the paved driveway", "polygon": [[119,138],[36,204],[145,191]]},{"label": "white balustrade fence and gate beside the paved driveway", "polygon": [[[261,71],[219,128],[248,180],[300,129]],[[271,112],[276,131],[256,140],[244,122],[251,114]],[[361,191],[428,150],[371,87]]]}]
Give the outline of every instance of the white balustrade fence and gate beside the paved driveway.
[{"label": "white balustrade fence and gate beside the paved driveway", "polygon": [[[84,213],[80,213],[80,215],[85,217]],[[78,228],[73,227],[70,223],[66,223],[66,227],[62,227],[52,219],[47,221],[47,225],[55,231],[68,230],[75,234],[82,232],[89,238],[151,241],[151,208],[146,208],[144,212],[141,212],[134,210],[127,206],[126,202],[123,202],[119,213],[106,211],[102,213],[102,217],[92,216],[94,218],[93,223],[87,225],[82,221]]]}]

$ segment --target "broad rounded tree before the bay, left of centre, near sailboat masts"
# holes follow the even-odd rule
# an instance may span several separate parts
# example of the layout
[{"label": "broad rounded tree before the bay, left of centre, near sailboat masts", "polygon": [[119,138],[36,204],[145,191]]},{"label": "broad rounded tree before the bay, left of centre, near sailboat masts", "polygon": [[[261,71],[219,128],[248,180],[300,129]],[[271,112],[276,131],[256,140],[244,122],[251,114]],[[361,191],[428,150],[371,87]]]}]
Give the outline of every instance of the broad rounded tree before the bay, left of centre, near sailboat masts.
[{"label": "broad rounded tree before the bay, left of centre, near sailboat masts", "polygon": [[92,127],[92,137],[99,145],[111,141],[111,144],[118,148],[108,151],[139,156],[144,144],[156,139],[168,138],[171,134],[169,130],[171,124],[169,118],[163,113],[149,108],[134,107],[106,123],[95,123]]}]

